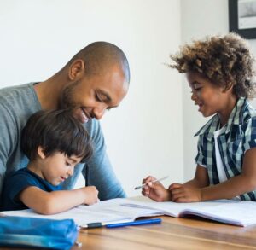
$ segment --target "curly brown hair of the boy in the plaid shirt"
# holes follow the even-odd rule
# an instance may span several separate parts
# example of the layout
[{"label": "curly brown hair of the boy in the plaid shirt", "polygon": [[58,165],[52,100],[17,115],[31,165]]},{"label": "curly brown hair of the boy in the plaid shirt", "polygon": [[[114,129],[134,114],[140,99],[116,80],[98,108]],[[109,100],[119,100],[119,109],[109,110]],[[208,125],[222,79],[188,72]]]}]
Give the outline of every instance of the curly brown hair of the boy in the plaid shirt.
[{"label": "curly brown hair of the boy in the plaid shirt", "polygon": [[255,60],[247,40],[236,33],[193,41],[170,57],[174,64],[168,66],[179,73],[201,73],[212,84],[224,86],[225,90],[233,86],[237,97],[252,98],[256,94]]}]

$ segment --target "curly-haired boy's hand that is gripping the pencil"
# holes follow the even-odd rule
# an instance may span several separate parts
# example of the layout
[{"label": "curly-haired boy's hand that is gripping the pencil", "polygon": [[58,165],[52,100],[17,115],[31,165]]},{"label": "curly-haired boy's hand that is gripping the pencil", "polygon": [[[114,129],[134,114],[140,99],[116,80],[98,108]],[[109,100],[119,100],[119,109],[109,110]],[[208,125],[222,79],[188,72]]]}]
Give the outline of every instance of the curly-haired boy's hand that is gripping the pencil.
[{"label": "curly-haired boy's hand that is gripping the pencil", "polygon": [[152,183],[154,180],[156,178],[150,176],[143,179],[143,184],[147,185],[143,188],[142,194],[154,201],[171,201],[169,190],[165,189],[160,182]]}]

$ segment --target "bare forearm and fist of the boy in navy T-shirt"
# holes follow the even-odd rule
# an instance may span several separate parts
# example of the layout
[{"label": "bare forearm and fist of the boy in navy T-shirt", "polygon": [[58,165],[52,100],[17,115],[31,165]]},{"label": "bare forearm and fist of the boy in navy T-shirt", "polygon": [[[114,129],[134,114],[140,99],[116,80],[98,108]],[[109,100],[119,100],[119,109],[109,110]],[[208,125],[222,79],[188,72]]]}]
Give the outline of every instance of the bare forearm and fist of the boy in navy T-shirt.
[{"label": "bare forearm and fist of the boy in navy T-shirt", "polygon": [[46,192],[38,187],[30,186],[20,192],[19,199],[35,212],[55,214],[81,204],[92,205],[98,201],[97,195],[98,191],[93,186],[52,192]]}]

